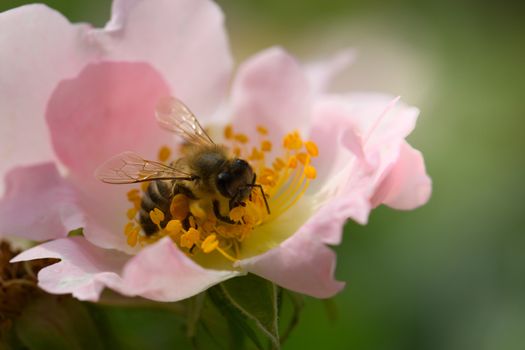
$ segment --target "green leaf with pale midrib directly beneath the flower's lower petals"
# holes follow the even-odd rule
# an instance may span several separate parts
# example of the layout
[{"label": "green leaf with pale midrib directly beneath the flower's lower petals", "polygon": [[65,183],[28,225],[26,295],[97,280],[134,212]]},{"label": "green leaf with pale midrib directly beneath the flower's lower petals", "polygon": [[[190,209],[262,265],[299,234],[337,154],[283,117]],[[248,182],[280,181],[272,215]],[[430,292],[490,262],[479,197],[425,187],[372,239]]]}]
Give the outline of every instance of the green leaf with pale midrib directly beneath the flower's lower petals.
[{"label": "green leaf with pale midrib directly beneath the flower's lower petals", "polygon": [[257,334],[270,341],[272,349],[280,349],[277,287],[255,275],[223,282],[210,290],[215,305],[244,330],[261,349]]}]

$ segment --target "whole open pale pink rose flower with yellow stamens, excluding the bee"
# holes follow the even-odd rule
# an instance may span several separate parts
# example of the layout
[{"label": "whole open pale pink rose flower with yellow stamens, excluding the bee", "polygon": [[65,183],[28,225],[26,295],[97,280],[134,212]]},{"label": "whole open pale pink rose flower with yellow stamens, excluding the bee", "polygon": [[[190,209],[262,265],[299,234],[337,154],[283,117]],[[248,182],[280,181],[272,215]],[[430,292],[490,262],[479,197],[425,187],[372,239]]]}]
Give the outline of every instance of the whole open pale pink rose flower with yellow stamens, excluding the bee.
[{"label": "whole open pale pink rose flower with yellow stamens, excluding the bee", "polygon": [[[61,259],[38,275],[50,293],[97,300],[109,287],[176,301],[254,273],[330,297],[344,283],[327,245],[340,243],[346,220],[365,224],[380,204],[413,209],[430,196],[423,158],[405,141],[418,110],[392,96],[326,91],[348,52],[301,65],[265,50],[239,67],[224,102],[232,60],[210,1],[117,0],[103,29],[23,6],[0,14],[0,46],[0,232],[46,241],[13,261]],[[154,117],[170,95],[250,161],[271,213],[256,190],[227,213],[239,225],[187,201],[193,223],[181,227],[179,209],[170,225],[160,224],[167,212],[153,212],[159,231],[148,236],[136,221],[140,186],[95,178],[124,151],[180,156]],[[174,155],[158,156],[166,145]],[[77,228],[83,236],[68,237]]]}]

